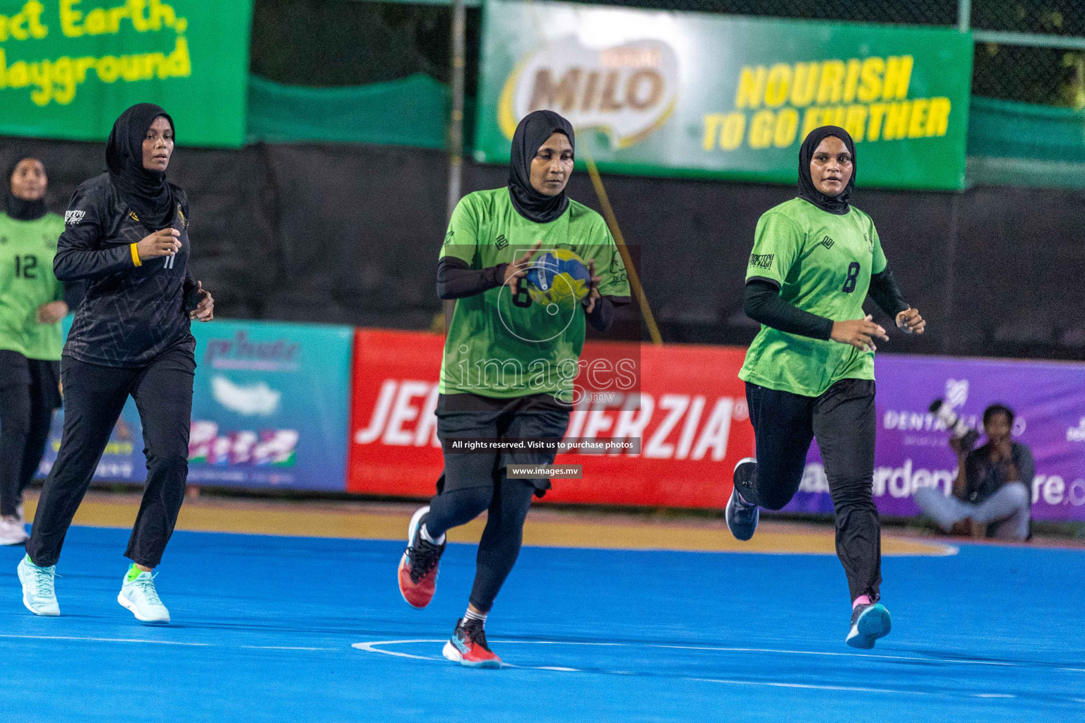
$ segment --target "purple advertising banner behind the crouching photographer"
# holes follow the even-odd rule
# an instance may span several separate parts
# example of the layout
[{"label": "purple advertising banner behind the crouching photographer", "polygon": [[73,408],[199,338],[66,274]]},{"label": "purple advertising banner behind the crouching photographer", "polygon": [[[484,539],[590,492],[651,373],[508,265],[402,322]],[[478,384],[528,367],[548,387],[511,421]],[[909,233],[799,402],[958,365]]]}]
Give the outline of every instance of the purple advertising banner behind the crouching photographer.
[{"label": "purple advertising banner behind the crouching photographer", "polygon": [[[1032,517],[1085,521],[1085,364],[879,354],[875,502],[882,515],[919,514],[920,487],[946,494],[957,475],[949,432],[929,412],[943,399],[982,431],[983,410],[1013,410],[1013,440],[1036,461]],[[978,444],[984,443],[981,436]],[[788,512],[831,513],[832,500],[817,444]]]}]

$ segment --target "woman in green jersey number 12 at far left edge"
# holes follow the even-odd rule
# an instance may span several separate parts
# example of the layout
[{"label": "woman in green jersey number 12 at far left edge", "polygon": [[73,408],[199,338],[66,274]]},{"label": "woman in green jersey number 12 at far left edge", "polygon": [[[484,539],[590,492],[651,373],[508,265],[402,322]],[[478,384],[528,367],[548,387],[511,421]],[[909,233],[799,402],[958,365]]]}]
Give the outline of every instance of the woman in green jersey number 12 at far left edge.
[{"label": "woman in green jersey number 12 at far left edge", "polygon": [[46,211],[46,167],[18,156],[0,212],[0,545],[26,541],[23,490],[46,451],[60,396],[64,287],[53,275],[64,219]]}]

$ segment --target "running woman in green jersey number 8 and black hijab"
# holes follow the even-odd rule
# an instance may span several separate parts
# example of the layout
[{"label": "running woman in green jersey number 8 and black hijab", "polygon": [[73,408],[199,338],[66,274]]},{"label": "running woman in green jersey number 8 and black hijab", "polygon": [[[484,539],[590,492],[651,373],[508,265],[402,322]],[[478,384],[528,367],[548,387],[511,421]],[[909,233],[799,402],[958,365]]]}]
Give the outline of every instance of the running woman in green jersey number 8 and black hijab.
[{"label": "running woman in green jersey number 8 and black hijab", "polygon": [[837,554],[852,599],[852,647],[890,631],[878,601],[881,529],[872,496],[875,341],[885,330],[863,311],[867,295],[908,334],[926,322],[901,296],[870,217],[848,204],[855,144],[824,126],[799,152],[799,197],[757,222],[744,308],[760,321],[739,378],[745,382],[757,457],[735,467],[727,526],[739,540],[758,506],[780,509],[802,481],[817,438],[837,517]]}]

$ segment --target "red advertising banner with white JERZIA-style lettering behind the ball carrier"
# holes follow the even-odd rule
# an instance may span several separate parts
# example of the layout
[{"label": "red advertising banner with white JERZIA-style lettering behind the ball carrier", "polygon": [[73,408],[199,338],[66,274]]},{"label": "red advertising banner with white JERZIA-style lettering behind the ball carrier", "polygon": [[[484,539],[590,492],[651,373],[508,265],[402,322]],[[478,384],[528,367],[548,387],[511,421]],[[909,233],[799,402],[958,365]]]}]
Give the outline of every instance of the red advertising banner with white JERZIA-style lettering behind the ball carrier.
[{"label": "red advertising banner with white JERZIA-style lettering behind the ball carrier", "polygon": [[[347,491],[434,493],[443,466],[434,416],[443,345],[436,334],[358,330]],[[584,358],[615,358],[608,346],[589,341]],[[641,453],[561,454],[556,463],[583,465],[584,477],[554,480],[546,501],[724,507],[735,463],[753,453],[738,378],[745,350],[636,349],[638,388],[585,397],[566,438],[640,438]]]}]

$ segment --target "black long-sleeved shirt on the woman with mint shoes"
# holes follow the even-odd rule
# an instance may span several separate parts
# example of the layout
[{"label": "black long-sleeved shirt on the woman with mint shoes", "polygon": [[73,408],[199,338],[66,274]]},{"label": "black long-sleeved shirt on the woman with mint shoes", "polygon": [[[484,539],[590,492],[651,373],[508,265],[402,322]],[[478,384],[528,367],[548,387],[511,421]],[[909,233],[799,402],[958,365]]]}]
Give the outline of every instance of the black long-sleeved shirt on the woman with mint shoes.
[{"label": "black long-sleeved shirt on the woman with mint shoes", "polygon": [[188,312],[195,308],[189,273],[189,206],[177,198],[170,227],[180,233],[174,256],[140,259],[133,244],[155,231],[128,208],[102,173],[84,182],[64,215],[53,273],[81,281],[84,299],[75,310],[64,353],[102,366],[142,366],[175,346],[195,350]]}]

